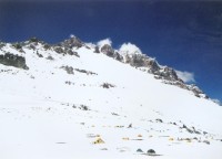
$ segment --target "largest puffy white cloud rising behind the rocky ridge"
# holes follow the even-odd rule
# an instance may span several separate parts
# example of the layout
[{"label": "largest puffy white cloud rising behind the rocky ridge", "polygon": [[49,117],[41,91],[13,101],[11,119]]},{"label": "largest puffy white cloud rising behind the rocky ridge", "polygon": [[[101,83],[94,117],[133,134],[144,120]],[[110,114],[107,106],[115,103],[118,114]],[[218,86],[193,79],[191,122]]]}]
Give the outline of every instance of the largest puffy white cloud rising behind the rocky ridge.
[{"label": "largest puffy white cloud rising behind the rocky ridge", "polygon": [[120,46],[119,52],[121,54],[125,54],[125,53],[127,54],[134,54],[134,53],[141,54],[142,53],[141,50],[137,45],[134,45],[134,44],[132,44],[130,42],[123,43]]}]

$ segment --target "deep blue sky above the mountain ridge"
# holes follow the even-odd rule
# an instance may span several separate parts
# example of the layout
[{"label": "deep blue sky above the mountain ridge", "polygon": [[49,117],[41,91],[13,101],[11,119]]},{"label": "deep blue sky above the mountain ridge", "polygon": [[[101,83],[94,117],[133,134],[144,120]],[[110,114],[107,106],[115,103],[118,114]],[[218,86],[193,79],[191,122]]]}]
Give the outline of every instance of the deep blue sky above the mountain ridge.
[{"label": "deep blue sky above the mountain ridge", "polygon": [[138,45],[160,64],[194,74],[195,84],[222,100],[222,2],[151,0],[0,0],[0,40],[31,36],[57,43],[110,38]]}]

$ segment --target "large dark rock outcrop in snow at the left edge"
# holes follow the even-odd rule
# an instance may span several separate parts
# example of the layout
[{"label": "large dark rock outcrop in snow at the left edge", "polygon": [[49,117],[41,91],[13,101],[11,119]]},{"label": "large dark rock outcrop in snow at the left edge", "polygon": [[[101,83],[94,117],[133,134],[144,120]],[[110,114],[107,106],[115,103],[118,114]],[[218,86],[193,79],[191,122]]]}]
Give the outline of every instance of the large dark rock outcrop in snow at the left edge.
[{"label": "large dark rock outcrop in snow at the left edge", "polygon": [[23,56],[14,55],[11,53],[0,55],[0,64],[29,70],[29,67],[26,64],[26,59]]}]

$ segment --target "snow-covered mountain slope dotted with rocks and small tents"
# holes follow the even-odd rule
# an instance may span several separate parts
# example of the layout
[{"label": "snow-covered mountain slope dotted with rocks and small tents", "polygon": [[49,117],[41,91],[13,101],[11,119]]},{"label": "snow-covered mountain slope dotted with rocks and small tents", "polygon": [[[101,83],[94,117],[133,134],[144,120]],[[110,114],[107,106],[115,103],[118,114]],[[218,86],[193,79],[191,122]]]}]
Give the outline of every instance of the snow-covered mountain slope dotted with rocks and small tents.
[{"label": "snow-covered mountain slope dotted with rocks and small tents", "polygon": [[132,56],[77,38],[1,43],[0,158],[221,159],[222,107]]}]

